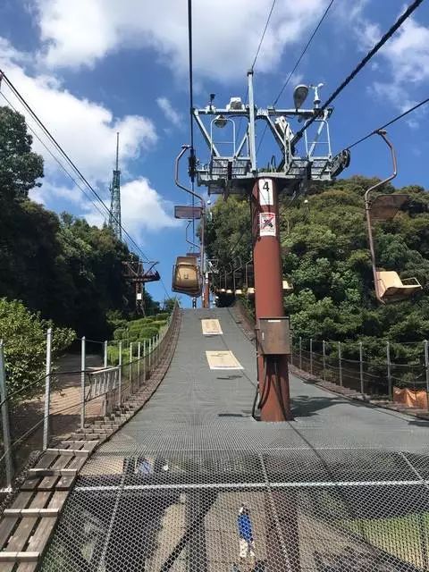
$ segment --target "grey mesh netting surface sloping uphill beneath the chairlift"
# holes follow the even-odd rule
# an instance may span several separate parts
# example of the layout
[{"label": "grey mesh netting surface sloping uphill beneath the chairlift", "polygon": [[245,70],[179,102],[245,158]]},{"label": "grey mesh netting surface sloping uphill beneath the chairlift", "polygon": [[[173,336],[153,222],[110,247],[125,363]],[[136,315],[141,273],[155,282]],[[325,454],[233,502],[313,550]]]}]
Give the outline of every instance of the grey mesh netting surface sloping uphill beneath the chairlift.
[{"label": "grey mesh netting surface sloping uphill beneath the chairlift", "polygon": [[[244,370],[209,369],[226,349]],[[228,309],[184,311],[164,382],[81,471],[42,570],[429,569],[427,424],[296,378],[296,421],[257,423],[255,378]]]}]

